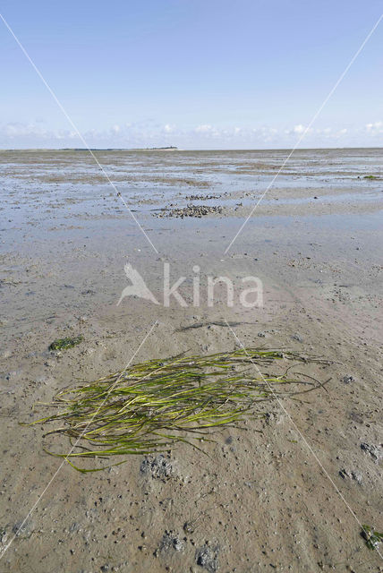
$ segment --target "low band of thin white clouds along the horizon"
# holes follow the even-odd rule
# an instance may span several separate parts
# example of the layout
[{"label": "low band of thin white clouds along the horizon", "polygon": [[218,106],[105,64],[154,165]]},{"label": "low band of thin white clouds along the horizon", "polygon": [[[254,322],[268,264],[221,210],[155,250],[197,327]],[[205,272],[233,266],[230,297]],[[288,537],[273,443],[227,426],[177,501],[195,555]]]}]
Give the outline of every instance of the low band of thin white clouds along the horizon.
[{"label": "low band of thin white clouds along the horizon", "polygon": [[[276,126],[235,125],[220,127],[214,124],[200,124],[188,129],[175,124],[159,124],[153,119],[143,119],[134,123],[114,124],[105,130],[89,129],[83,133],[89,147],[95,148],[145,148],[175,145],[182,149],[211,148],[289,148],[297,137],[304,133],[303,124],[290,128]],[[383,122],[376,121],[360,128],[336,126],[311,128],[302,141],[304,146],[369,145],[371,137],[381,136]],[[374,141],[376,145],[376,141]],[[76,133],[71,130],[48,129],[46,123],[13,122],[0,125],[0,147],[82,147]]]}]

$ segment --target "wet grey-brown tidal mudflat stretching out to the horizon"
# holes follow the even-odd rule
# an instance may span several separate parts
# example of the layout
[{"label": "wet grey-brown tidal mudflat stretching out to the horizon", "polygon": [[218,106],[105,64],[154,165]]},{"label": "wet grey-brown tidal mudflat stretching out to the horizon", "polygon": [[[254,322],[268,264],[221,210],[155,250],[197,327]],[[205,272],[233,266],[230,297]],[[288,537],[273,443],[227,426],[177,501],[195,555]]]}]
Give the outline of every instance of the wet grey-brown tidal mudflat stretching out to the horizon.
[{"label": "wet grey-brown tidal mudflat stretching out to the horizon", "polygon": [[[131,214],[85,151],[0,151],[0,571],[383,571],[361,535],[383,523],[383,158],[297,150],[253,210],[286,154],[95,152]],[[117,305],[127,263],[159,304]],[[165,263],[183,306],[163,304]],[[222,276],[234,304],[221,285],[209,305],[208,277]],[[261,307],[240,304],[249,276]],[[330,380],[215,433],[208,455],[178,444],[89,474],[20,424],[131,360],[240,344],[322,356],[297,370]]]}]

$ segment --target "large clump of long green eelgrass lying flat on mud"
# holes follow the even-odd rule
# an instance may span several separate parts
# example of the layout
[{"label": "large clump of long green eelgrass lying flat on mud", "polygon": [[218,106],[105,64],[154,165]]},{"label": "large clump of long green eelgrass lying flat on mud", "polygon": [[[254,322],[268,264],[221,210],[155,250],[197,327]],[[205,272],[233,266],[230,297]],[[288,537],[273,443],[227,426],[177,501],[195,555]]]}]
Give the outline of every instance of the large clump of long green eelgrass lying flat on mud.
[{"label": "large clump of long green eelgrass lying flat on mud", "polygon": [[68,436],[72,449],[46,451],[81,472],[102,468],[79,468],[72,458],[149,454],[179,441],[197,447],[214,429],[238,423],[245,413],[263,415],[256,407],[260,402],[291,396],[297,393],[296,384],[311,387],[305,391],[319,385],[309,376],[290,375],[290,368],[282,374],[264,372],[281,359],[322,362],[258,348],[149,360],[59,391],[52,403],[41,405],[58,412],[34,423],[59,423],[45,437]]}]

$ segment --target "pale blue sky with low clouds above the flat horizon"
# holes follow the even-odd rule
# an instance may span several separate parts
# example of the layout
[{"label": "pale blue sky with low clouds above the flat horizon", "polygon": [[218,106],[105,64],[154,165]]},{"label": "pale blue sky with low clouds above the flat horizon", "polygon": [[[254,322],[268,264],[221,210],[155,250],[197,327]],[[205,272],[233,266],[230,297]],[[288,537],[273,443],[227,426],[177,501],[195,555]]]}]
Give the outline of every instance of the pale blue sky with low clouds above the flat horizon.
[{"label": "pale blue sky with low clouds above the flat horizon", "polygon": [[[383,3],[5,0],[5,20],[91,147],[286,148]],[[301,147],[383,142],[383,21]],[[0,21],[0,147],[82,147]]]}]

